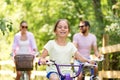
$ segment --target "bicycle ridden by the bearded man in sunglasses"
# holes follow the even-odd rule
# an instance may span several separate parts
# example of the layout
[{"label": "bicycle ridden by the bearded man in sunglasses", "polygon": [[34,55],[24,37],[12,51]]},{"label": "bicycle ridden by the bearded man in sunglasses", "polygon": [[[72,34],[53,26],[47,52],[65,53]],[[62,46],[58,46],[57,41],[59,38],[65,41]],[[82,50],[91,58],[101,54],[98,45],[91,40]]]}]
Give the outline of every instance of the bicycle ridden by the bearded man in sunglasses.
[{"label": "bicycle ridden by the bearded man in sunglasses", "polygon": [[86,74],[87,69],[89,69],[90,72],[91,72],[89,80],[100,80],[99,77],[94,76],[94,70],[93,70],[93,68],[95,66],[97,66],[98,62],[101,62],[103,60],[104,60],[104,56],[102,55],[100,59],[93,59],[93,61],[95,61],[96,64],[84,63],[83,71],[82,71],[82,73],[83,73],[82,80],[85,80],[85,78],[86,78],[85,74]]}]

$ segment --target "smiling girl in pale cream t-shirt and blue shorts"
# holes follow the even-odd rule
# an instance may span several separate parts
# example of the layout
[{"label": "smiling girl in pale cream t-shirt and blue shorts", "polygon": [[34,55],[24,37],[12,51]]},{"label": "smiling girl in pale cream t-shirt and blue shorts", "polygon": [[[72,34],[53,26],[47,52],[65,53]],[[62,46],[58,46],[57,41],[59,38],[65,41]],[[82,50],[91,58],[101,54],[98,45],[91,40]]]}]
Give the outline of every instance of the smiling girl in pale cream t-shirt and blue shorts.
[{"label": "smiling girl in pale cream t-shirt and blue shorts", "polygon": [[[48,55],[50,60],[55,60],[57,64],[70,64],[73,56],[82,62],[92,62],[81,57],[74,44],[68,42],[67,37],[69,32],[70,26],[68,21],[66,19],[59,19],[54,27],[56,38],[54,40],[49,40],[44,46],[44,50],[40,57],[40,62],[42,64],[46,64],[46,56]],[[66,68],[61,68],[62,72],[65,72],[65,70]],[[67,71],[69,72],[71,70]],[[49,80],[60,80],[55,66],[50,65],[47,67],[47,78]]]}]

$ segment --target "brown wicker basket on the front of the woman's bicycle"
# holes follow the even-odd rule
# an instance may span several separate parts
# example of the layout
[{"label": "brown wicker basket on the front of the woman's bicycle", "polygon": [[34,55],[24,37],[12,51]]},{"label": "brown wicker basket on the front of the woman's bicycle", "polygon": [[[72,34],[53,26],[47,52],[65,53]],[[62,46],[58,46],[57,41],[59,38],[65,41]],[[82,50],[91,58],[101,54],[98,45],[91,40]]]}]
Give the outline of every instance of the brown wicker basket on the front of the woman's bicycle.
[{"label": "brown wicker basket on the front of the woman's bicycle", "polygon": [[34,56],[31,54],[19,54],[15,56],[16,70],[30,71],[33,70]]}]

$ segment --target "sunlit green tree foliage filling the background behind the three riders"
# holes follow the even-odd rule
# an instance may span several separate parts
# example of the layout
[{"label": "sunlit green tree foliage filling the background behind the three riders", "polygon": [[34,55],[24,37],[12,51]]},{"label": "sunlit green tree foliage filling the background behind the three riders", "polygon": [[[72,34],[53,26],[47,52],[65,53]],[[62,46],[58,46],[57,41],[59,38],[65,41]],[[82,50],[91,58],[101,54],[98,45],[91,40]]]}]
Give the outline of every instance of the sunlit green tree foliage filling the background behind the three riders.
[{"label": "sunlit green tree foliage filling the background behind the three riders", "polygon": [[98,47],[102,46],[103,34],[109,34],[110,45],[120,43],[120,0],[0,0],[0,8],[0,59],[10,58],[13,37],[22,20],[28,22],[39,52],[55,37],[53,27],[61,18],[69,21],[71,41],[79,32],[79,21],[88,20]]}]

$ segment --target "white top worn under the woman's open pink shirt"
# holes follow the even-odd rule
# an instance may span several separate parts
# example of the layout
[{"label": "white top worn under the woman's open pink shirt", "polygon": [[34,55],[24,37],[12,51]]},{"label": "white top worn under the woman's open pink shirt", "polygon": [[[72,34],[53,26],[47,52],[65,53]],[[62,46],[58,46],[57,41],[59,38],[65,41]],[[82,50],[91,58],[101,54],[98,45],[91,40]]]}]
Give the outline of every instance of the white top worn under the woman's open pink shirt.
[{"label": "white top worn under the woman's open pink shirt", "polygon": [[19,49],[17,50],[17,54],[30,54],[30,49],[29,49],[29,40],[19,40]]}]

